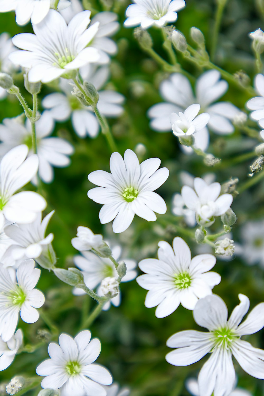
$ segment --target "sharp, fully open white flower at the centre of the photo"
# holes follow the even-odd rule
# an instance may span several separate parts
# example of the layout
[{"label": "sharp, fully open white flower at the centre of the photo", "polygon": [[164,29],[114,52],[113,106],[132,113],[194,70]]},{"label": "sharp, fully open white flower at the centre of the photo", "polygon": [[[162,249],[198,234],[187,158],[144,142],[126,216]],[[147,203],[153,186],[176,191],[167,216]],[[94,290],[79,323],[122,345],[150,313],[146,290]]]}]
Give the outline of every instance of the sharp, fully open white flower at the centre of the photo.
[{"label": "sharp, fully open white flower at the centre of the photo", "polygon": [[113,231],[125,231],[136,215],[147,221],[155,221],[156,213],[165,213],[167,206],[154,190],[168,178],[167,168],[158,169],[159,158],[149,158],[139,164],[136,154],[127,149],[124,159],[118,152],[110,158],[110,171],[94,171],[89,181],[100,187],[88,191],[88,197],[103,204],[99,212],[102,224],[114,219]]}]

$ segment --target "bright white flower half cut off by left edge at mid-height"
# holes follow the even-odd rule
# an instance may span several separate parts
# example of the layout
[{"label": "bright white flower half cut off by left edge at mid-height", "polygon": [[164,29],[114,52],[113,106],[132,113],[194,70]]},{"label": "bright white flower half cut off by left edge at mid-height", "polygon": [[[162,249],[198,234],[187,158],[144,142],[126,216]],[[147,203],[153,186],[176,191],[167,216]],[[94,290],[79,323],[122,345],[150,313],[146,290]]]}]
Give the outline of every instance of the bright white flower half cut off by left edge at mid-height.
[{"label": "bright white flower half cut off by left edge at mid-height", "polygon": [[38,157],[26,159],[28,148],[20,145],[12,148],[0,162],[0,228],[5,219],[13,223],[27,224],[47,206],[44,198],[33,191],[17,190],[25,186],[38,170]]}]

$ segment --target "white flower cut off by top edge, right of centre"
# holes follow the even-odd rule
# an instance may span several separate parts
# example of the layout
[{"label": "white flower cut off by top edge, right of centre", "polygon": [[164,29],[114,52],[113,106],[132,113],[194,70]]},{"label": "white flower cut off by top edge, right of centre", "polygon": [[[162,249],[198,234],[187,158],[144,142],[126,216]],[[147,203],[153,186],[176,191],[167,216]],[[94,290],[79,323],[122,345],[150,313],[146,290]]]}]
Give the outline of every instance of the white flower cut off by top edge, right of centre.
[{"label": "white flower cut off by top edge, right of centre", "polygon": [[177,12],[185,6],[184,0],[133,0],[126,10],[128,17],[125,27],[141,25],[148,29],[152,25],[164,26],[167,22],[175,22]]}]

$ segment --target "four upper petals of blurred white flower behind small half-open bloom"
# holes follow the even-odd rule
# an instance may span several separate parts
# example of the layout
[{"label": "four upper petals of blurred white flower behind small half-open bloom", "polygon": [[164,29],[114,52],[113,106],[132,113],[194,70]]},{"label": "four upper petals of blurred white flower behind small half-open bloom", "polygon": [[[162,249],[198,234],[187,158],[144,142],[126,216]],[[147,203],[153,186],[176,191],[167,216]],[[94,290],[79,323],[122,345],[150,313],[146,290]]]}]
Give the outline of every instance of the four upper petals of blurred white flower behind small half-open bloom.
[{"label": "four upper petals of blurred white flower behind small half-open bloom", "polygon": [[240,110],[229,102],[212,104],[228,89],[228,83],[220,78],[221,74],[217,70],[201,74],[196,82],[194,95],[188,78],[180,73],[171,74],[160,84],[160,95],[166,102],[158,103],[148,110],[151,128],[159,132],[170,131],[169,117],[172,112],[183,111],[188,106],[199,103],[201,111],[210,116],[207,125],[209,129],[220,135],[233,133],[235,129],[231,121]]}]

